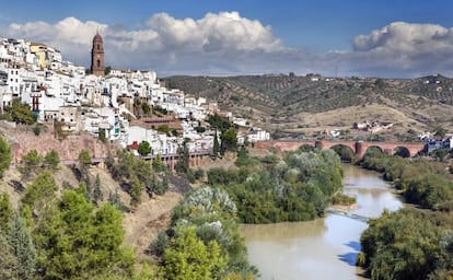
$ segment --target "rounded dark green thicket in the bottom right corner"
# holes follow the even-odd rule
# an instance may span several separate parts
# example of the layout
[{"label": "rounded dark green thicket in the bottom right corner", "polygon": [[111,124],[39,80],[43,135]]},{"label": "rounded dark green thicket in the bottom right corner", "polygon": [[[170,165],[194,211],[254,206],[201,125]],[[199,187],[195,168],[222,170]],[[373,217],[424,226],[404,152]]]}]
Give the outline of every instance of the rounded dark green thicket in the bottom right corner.
[{"label": "rounded dark green thicket in the bottom right corner", "polygon": [[369,221],[358,265],[371,279],[451,279],[453,220],[444,213],[404,209]]}]

